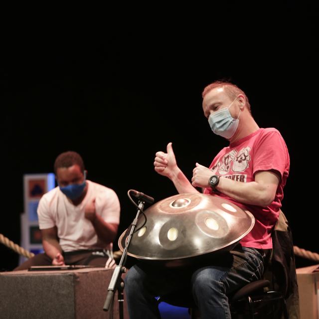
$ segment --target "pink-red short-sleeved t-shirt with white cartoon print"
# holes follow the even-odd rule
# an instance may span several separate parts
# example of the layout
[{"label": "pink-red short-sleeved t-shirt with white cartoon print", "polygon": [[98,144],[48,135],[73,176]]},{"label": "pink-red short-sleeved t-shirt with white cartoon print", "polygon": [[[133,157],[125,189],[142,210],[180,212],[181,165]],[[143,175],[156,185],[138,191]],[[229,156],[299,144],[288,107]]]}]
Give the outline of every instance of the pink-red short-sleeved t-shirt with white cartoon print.
[{"label": "pink-red short-sleeved t-shirt with white cartoon print", "polygon": [[271,232],[278,220],[283,188],[289,173],[289,153],[286,143],[274,128],[259,129],[249,136],[222,149],[210,164],[214,174],[244,183],[254,181],[255,173],[275,169],[281,175],[274,201],[267,207],[242,204],[231,197],[205,188],[204,193],[214,193],[232,201],[239,207],[249,210],[255,217],[253,229],[240,240],[244,247],[272,248]]}]

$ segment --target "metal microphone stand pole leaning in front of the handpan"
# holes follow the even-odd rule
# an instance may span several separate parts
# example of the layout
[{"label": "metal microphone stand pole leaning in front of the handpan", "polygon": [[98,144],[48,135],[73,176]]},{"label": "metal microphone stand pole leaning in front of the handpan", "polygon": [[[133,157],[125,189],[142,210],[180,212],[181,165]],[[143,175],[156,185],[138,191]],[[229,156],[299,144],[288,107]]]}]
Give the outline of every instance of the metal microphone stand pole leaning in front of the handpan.
[{"label": "metal microphone stand pole leaning in front of the handpan", "polygon": [[121,260],[119,265],[117,265],[114,269],[110,284],[109,284],[109,288],[108,288],[108,294],[106,296],[105,299],[105,303],[104,303],[104,307],[103,310],[104,311],[108,311],[110,308],[110,305],[112,304],[113,300],[114,300],[114,295],[115,295],[115,291],[118,291],[118,301],[119,301],[119,313],[120,313],[120,319],[123,319],[123,302],[124,302],[124,281],[121,277],[121,275],[123,273],[126,272],[126,268],[124,267],[124,261],[126,260],[126,256],[128,253],[128,248],[130,246],[131,243],[131,239],[134,233],[134,229],[138,223],[138,218],[140,215],[141,210],[143,211],[144,208],[144,201],[139,201],[139,209],[138,212],[136,214],[135,219],[133,220],[132,224],[131,224],[131,230],[129,233],[129,236],[126,238],[126,242],[127,244],[125,245]]}]

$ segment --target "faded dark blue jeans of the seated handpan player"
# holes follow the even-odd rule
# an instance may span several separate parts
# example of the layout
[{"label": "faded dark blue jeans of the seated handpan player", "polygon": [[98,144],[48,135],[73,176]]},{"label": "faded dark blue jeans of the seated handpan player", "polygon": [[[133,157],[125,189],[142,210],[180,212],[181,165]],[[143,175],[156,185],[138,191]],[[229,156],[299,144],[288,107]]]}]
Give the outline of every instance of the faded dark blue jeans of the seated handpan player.
[{"label": "faded dark blue jeans of the seated handpan player", "polygon": [[230,252],[212,256],[209,263],[187,269],[133,266],[125,278],[130,319],[160,319],[156,296],[191,292],[201,319],[230,319],[229,295],[262,278],[265,254],[237,245]]}]

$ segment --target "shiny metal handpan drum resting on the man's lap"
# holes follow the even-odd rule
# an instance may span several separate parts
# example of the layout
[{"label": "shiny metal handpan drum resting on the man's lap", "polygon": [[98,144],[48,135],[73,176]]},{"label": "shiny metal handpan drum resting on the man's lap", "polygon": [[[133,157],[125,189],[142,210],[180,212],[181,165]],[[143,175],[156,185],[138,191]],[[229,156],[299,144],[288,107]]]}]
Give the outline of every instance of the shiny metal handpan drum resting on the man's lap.
[{"label": "shiny metal handpan drum resting on the man's lap", "polygon": [[[189,264],[194,257],[231,250],[250,232],[254,216],[215,195],[178,194],[153,204],[139,215],[128,255],[161,261],[164,266]],[[124,251],[126,230],[119,238]]]}]

